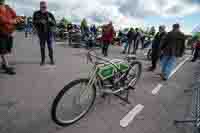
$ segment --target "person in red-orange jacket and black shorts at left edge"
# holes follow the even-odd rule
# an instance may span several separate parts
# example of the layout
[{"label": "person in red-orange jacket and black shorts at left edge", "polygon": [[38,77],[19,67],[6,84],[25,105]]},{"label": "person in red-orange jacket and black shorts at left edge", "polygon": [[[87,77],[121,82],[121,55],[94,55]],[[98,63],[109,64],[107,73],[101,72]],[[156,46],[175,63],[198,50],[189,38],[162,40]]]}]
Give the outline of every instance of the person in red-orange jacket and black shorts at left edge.
[{"label": "person in red-orange jacket and black shorts at left edge", "polygon": [[12,52],[13,36],[16,24],[23,22],[21,17],[17,17],[16,12],[5,4],[5,0],[0,0],[0,56],[2,59],[2,69],[9,75],[15,75],[14,69],[9,67],[7,54]]}]

